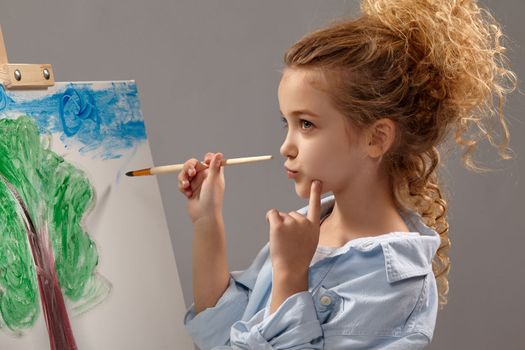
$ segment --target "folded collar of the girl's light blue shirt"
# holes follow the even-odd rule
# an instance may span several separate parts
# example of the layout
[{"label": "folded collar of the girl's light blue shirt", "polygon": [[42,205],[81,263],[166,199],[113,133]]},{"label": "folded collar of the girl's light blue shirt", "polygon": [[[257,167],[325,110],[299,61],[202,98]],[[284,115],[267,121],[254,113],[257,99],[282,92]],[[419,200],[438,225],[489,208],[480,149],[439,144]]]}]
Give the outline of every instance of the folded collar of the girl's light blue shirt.
[{"label": "folded collar of the girl's light blue shirt", "polygon": [[[321,198],[322,218],[334,206],[335,196]],[[307,215],[308,206],[298,213]],[[347,242],[336,249],[330,257],[346,254],[352,249],[368,252],[381,248],[385,257],[388,282],[425,275],[432,271],[432,259],[441,243],[439,234],[427,226],[415,211],[399,212],[410,232],[389,232],[374,237],[362,237]]]}]

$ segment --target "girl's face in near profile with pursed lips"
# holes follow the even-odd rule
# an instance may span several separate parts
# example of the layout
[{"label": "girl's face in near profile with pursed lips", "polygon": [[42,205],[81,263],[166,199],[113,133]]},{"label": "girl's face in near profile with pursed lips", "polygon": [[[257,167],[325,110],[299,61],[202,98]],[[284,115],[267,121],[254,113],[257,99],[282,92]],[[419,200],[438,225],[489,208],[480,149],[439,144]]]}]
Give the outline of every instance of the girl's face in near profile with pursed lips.
[{"label": "girl's face in near profile with pursed lips", "polygon": [[323,83],[313,71],[287,68],[278,90],[287,128],[280,153],[286,158],[284,166],[297,171],[293,180],[301,198],[309,197],[315,179],[322,181],[323,193],[355,185],[367,157],[364,138],[333,107],[328,94],[310,83],[315,78]]}]

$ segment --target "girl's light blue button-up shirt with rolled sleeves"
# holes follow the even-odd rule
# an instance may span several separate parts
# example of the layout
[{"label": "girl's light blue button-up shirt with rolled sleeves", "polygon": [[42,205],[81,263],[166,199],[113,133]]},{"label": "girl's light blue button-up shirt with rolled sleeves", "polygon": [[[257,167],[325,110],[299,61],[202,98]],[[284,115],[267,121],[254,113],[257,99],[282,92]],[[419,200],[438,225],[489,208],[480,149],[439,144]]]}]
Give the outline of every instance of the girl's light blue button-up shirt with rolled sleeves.
[{"label": "girl's light blue button-up shirt with rolled sleeves", "polygon": [[[321,199],[321,217],[334,196]],[[297,212],[306,215],[308,206]],[[411,232],[353,239],[310,266],[308,291],[288,297],[271,315],[272,265],[267,243],[216,305],[184,325],[207,349],[422,349],[438,309],[432,258],[440,238],[414,212],[401,213]]]}]

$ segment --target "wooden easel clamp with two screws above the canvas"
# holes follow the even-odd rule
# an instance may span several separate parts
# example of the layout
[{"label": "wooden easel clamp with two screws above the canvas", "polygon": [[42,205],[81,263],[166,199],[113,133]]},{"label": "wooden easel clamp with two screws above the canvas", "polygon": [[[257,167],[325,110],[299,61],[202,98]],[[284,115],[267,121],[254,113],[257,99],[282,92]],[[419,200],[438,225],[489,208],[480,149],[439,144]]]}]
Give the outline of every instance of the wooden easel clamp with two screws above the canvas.
[{"label": "wooden easel clamp with two screws above the canvas", "polygon": [[55,85],[50,64],[9,63],[0,27],[0,84],[6,89],[47,89]]}]

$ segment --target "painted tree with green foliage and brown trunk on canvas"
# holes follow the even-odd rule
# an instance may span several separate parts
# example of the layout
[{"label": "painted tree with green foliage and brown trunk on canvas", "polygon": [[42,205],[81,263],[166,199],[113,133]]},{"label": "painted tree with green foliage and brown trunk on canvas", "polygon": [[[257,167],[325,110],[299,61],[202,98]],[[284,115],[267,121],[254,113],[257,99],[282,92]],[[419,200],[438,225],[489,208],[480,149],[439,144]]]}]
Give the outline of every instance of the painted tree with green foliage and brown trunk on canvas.
[{"label": "painted tree with green foliage and brown trunk on canvas", "polygon": [[51,349],[76,349],[65,300],[82,313],[111,288],[82,224],[93,186],[33,118],[0,119],[0,135],[0,327],[23,335],[41,305]]}]

